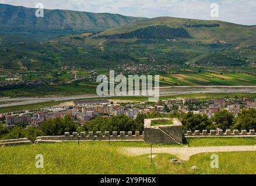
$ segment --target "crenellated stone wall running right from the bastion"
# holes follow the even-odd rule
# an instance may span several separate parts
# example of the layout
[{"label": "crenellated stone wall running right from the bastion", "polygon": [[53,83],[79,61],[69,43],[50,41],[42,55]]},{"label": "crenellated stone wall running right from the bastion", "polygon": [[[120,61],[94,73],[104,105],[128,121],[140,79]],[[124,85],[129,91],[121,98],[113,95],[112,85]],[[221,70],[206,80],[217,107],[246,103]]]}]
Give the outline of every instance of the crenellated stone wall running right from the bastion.
[{"label": "crenellated stone wall running right from the bastion", "polygon": [[250,130],[249,133],[247,130],[242,130],[241,133],[239,130],[226,130],[224,133],[223,130],[211,130],[208,133],[207,130],[203,130],[202,133],[199,130],[196,130],[195,133],[192,131],[187,131],[187,134],[184,134],[185,138],[191,137],[254,137],[256,136],[255,130]]}]

